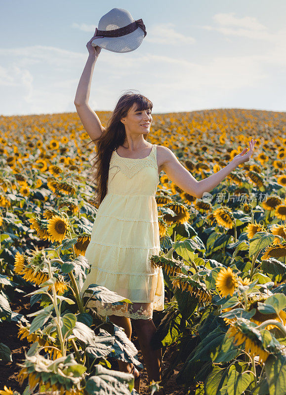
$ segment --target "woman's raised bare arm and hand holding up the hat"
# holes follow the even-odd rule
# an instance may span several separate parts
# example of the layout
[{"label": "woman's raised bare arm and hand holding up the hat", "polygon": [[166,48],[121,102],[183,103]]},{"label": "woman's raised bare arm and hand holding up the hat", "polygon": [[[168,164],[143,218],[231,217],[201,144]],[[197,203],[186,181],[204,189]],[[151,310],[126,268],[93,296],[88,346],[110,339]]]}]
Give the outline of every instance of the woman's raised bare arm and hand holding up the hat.
[{"label": "woman's raised bare arm and hand holding up the hat", "polygon": [[89,107],[88,104],[92,73],[93,73],[95,62],[101,51],[101,48],[99,46],[94,47],[93,45],[91,45],[91,42],[95,38],[102,37],[102,36],[95,37],[96,32],[97,32],[97,28],[95,29],[95,33],[92,39],[89,40],[86,44],[86,48],[88,50],[89,55],[86,64],[84,66],[82,77],[80,79],[76,97],[74,100],[74,104],[76,106],[77,113],[81,118],[82,125],[92,140],[97,139],[104,130],[104,127],[100,122],[100,119],[97,117],[95,112]]}]

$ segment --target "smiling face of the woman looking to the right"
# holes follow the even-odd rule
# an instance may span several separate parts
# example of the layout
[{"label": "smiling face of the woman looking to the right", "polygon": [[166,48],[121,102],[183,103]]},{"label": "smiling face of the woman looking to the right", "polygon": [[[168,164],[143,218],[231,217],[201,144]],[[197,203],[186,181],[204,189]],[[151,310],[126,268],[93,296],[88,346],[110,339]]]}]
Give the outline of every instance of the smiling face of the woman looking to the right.
[{"label": "smiling face of the woman looking to the right", "polygon": [[150,132],[152,120],[151,109],[138,111],[137,104],[134,103],[127,116],[122,118],[121,121],[125,125],[125,130],[129,133],[147,134]]}]

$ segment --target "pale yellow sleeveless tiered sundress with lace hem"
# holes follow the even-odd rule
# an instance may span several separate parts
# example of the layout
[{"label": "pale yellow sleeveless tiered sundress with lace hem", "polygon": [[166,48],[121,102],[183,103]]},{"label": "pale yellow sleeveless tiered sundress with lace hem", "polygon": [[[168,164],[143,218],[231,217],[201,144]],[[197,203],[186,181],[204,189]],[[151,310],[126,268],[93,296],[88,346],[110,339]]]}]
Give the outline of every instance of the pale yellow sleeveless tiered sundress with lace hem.
[{"label": "pale yellow sleeveless tiered sundress with lace hem", "polygon": [[132,304],[89,301],[88,307],[96,307],[102,316],[149,319],[153,310],[164,308],[163,272],[152,268],[149,260],[161,249],[155,199],[158,184],[156,144],[145,158],[123,158],[116,150],[112,153],[107,194],[98,207],[85,252],[91,271],[81,295],[94,283]]}]

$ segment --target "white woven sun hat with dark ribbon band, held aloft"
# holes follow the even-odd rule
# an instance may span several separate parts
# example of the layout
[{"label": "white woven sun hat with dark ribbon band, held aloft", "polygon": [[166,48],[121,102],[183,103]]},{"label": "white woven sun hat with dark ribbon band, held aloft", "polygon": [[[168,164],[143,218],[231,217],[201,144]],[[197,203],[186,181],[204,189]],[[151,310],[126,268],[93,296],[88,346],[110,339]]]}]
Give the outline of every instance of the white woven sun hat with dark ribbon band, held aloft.
[{"label": "white woven sun hat with dark ribbon band, held aloft", "polygon": [[112,8],[103,15],[97,29],[96,36],[104,37],[94,39],[91,45],[112,52],[134,51],[147,34],[142,19],[135,21],[130,12],[122,8]]}]

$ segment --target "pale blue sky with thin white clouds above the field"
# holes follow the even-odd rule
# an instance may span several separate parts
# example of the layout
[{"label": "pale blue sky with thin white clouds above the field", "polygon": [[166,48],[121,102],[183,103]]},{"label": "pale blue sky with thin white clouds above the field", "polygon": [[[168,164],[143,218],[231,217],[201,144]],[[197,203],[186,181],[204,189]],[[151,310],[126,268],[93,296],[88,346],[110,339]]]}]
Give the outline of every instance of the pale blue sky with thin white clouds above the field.
[{"label": "pale blue sky with thin white clouds above the field", "polygon": [[285,0],[0,0],[0,6],[0,115],[75,112],[86,43],[114,7],[142,18],[147,36],[132,52],[101,50],[93,110],[112,110],[125,90],[137,89],[154,113],[286,111]]}]

